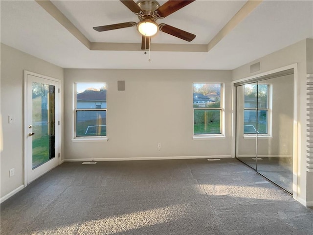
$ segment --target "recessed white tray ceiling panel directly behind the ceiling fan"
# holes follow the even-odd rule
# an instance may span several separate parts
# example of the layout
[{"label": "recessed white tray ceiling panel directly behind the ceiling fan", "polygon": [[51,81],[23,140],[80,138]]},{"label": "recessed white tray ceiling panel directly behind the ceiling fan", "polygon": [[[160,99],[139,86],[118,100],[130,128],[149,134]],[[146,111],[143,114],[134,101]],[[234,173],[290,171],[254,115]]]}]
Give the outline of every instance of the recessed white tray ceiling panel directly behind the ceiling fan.
[{"label": "recessed white tray ceiling panel directly behind the ceiling fan", "polygon": [[[138,22],[138,17],[120,1],[52,2],[91,42],[141,43],[141,35],[135,27],[107,32],[92,29],[93,26]],[[166,1],[158,2],[162,5]],[[208,44],[245,3],[246,1],[210,1],[208,5],[208,1],[197,1],[157,20],[157,23],[169,24],[196,34],[192,44]],[[188,44],[162,32],[153,37],[152,43]]]}]

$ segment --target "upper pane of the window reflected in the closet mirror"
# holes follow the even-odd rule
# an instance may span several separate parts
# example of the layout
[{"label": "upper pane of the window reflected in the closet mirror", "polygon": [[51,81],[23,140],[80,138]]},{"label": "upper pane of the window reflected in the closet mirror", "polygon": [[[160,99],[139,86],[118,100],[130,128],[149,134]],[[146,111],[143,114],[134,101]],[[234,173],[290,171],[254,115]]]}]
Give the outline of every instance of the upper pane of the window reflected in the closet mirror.
[{"label": "upper pane of the window reflected in the closet mirror", "polygon": [[[257,100],[258,89],[258,100]],[[246,84],[245,85],[245,108],[268,108],[268,85]]]}]

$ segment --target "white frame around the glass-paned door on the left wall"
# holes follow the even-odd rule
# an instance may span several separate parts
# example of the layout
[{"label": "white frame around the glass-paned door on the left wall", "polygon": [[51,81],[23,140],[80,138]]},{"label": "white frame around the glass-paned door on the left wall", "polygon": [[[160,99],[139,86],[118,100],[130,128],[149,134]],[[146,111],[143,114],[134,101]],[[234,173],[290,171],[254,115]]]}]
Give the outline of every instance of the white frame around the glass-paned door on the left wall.
[{"label": "white frame around the glass-paned door on the left wall", "polygon": [[58,164],[62,164],[61,161],[61,149],[62,149],[62,132],[61,132],[61,117],[62,117],[62,112],[61,112],[61,93],[60,93],[60,88],[61,88],[61,80],[56,79],[53,77],[45,76],[39,73],[31,72],[31,71],[26,71],[24,70],[24,127],[23,127],[23,137],[24,137],[24,187],[27,186],[27,133],[28,133],[28,123],[27,123],[27,75],[32,75],[36,77],[40,77],[43,79],[51,80],[54,82],[59,83],[59,91],[56,91],[56,94],[59,94],[59,109],[57,110],[59,112],[59,120],[55,120],[55,122],[60,121],[60,125],[56,125],[55,128],[59,128],[59,142],[56,143],[58,144],[59,147],[59,160]]}]

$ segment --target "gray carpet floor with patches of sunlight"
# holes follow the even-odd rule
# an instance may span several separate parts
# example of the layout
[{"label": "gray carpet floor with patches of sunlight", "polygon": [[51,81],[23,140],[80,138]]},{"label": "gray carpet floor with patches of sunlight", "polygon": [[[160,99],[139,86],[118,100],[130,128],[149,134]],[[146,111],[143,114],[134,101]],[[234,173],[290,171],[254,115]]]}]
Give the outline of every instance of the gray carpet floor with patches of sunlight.
[{"label": "gray carpet floor with patches of sunlight", "polygon": [[1,204],[3,235],[313,235],[313,210],[236,159],[64,163]]}]

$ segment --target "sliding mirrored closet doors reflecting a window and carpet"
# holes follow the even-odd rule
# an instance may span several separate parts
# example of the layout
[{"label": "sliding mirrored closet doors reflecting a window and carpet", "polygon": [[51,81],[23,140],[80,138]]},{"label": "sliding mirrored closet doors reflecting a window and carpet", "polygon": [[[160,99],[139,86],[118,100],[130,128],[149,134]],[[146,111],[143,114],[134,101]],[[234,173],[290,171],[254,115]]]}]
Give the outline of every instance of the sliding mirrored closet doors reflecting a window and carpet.
[{"label": "sliding mirrored closet doors reflecting a window and carpet", "polygon": [[235,85],[236,157],[292,193],[293,71]]}]

